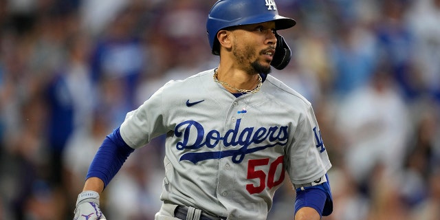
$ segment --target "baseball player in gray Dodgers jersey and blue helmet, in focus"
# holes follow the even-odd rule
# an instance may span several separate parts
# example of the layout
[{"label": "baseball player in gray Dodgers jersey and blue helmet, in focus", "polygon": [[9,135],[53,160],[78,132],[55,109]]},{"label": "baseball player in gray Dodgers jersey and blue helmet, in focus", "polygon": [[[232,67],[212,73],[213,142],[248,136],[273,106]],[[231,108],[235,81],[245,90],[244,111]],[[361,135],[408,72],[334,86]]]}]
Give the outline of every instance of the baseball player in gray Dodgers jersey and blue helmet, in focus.
[{"label": "baseball player in gray Dodgers jersey and blue helmet, in focus", "polygon": [[270,75],[291,55],[276,30],[295,24],[274,0],[217,1],[206,28],[218,67],[166,83],[127,113],[91,162],[75,219],[105,219],[99,193],[136,148],[162,134],[157,220],[266,219],[286,177],[295,219],[330,214],[331,163],[311,104]]}]

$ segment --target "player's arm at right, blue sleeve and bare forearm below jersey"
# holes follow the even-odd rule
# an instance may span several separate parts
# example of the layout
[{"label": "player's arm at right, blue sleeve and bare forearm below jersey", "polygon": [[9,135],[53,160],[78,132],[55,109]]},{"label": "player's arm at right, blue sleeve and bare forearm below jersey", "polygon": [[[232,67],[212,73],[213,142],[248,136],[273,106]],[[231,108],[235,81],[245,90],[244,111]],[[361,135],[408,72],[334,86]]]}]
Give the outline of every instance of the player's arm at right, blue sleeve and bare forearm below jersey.
[{"label": "player's arm at right, blue sleeve and bare forearm below jersey", "polygon": [[320,181],[295,186],[295,220],[319,220],[333,211],[333,198],[326,174]]}]

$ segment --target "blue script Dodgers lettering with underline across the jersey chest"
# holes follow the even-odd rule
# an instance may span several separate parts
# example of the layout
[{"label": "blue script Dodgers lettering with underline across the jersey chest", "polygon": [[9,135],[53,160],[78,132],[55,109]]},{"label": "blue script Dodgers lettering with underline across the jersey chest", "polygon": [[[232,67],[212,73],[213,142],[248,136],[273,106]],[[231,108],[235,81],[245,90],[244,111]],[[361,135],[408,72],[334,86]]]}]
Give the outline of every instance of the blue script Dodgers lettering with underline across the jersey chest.
[{"label": "blue script Dodgers lettering with underline across the jersey chest", "polygon": [[[271,126],[269,128],[247,127],[239,132],[240,122],[241,119],[236,120],[234,129],[226,131],[223,137],[221,137],[221,133],[215,129],[206,132],[203,125],[195,120],[186,120],[177,124],[174,134],[176,137],[182,137],[181,142],[177,142],[176,144],[177,150],[199,149],[203,146],[215,148],[220,141],[223,141],[225,147],[241,146],[241,148],[227,151],[185,153],[181,156],[180,161],[188,160],[197,164],[197,162],[206,159],[232,157],[232,162],[239,164],[248,153],[262,151],[265,148],[277,145],[285,146],[287,144],[289,126]],[[192,134],[192,132],[195,132],[195,135]],[[190,142],[190,136],[196,137],[196,140]],[[255,144],[256,146],[248,148],[251,144]]]}]

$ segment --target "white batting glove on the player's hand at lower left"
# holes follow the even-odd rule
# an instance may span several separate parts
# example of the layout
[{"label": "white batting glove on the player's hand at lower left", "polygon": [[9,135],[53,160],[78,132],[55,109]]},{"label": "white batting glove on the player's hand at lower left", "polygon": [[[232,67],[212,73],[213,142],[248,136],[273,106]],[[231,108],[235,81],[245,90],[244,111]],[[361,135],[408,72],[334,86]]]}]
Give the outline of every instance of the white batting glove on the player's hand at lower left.
[{"label": "white batting glove on the player's hand at lower left", "polygon": [[76,199],[74,220],[106,220],[99,208],[99,194],[95,191],[84,191]]}]

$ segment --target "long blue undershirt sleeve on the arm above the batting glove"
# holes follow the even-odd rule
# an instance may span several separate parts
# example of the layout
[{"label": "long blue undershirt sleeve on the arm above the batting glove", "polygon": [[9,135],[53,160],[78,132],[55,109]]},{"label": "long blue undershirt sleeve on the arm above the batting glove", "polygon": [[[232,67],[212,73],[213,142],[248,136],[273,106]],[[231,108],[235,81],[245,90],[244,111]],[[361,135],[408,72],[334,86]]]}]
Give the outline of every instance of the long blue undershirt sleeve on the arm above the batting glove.
[{"label": "long blue undershirt sleeve on the arm above the batting glove", "polygon": [[134,151],[124,142],[119,129],[118,127],[113,133],[105,137],[89,166],[86,179],[98,177],[104,181],[104,187],[106,187]]}]

